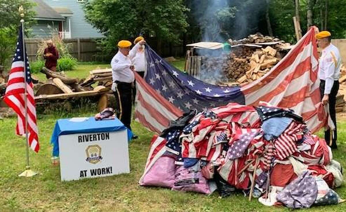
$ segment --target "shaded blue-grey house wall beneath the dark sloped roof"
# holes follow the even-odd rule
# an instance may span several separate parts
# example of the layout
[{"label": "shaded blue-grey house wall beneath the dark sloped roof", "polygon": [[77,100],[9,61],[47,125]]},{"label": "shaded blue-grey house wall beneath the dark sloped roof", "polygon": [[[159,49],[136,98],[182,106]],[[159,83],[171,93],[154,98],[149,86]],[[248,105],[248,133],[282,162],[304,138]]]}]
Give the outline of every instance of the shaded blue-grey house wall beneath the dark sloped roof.
[{"label": "shaded blue-grey house wall beneath the dark sloped roof", "polygon": [[30,37],[51,37],[53,32],[57,32],[59,29],[60,21],[44,21],[37,20],[31,31]]}]

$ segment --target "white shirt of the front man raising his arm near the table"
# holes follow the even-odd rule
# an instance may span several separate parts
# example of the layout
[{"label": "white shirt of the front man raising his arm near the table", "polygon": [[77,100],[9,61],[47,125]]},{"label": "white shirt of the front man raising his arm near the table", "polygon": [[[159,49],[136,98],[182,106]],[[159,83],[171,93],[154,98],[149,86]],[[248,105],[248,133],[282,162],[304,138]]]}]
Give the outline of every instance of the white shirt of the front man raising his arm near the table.
[{"label": "white shirt of the front man raising his arm near the table", "polygon": [[137,43],[127,56],[120,51],[114,55],[110,62],[113,81],[132,83],[135,80],[135,75],[130,67],[133,65],[131,59],[136,56],[139,46],[139,43]]}]

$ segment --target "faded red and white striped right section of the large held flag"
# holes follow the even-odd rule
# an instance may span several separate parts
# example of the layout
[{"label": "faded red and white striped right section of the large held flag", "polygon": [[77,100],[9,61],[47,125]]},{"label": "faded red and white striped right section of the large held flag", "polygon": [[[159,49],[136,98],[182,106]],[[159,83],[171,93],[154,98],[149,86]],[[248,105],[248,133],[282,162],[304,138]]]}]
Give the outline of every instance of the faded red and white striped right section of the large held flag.
[{"label": "faded red and white striped right section of the large held flag", "polygon": [[241,88],[247,105],[260,101],[287,107],[301,115],[312,132],[326,117],[318,116],[320,106],[318,54],[315,30],[311,28],[295,47],[261,79]]}]

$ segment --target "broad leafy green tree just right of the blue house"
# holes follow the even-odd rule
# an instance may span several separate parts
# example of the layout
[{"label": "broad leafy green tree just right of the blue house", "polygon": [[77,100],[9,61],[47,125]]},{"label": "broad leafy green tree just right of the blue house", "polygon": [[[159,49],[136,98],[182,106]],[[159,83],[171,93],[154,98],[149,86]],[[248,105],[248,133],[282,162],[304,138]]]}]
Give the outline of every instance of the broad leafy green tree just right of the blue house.
[{"label": "broad leafy green tree just right of the blue house", "polygon": [[[108,52],[114,51],[119,39],[132,39],[139,34],[162,41],[179,43],[186,31],[188,8],[182,0],[93,0],[85,3],[86,20],[107,38]],[[159,50],[160,52],[160,50]]]}]

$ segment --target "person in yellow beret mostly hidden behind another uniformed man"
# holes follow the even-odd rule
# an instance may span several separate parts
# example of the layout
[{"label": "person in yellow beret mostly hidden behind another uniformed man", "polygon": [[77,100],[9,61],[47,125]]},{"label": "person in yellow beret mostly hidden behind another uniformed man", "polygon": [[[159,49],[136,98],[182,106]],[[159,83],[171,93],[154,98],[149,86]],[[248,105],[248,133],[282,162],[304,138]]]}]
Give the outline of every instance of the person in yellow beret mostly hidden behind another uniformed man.
[{"label": "person in yellow beret mostly hidden behind another uniformed man", "polygon": [[[144,40],[144,37],[139,36],[135,39],[134,43],[137,44],[139,41],[143,41],[143,40]],[[144,54],[144,48],[145,48],[145,45],[141,45],[138,48],[136,55],[132,60],[133,65],[135,66],[136,72],[142,78],[144,78],[144,74],[145,74],[145,71],[147,68],[146,60],[145,60],[145,54]],[[131,51],[134,51],[134,50],[132,49]],[[136,83],[135,83],[135,87],[133,88],[133,104],[135,104],[136,93],[137,93],[137,91],[136,91]]]}]

